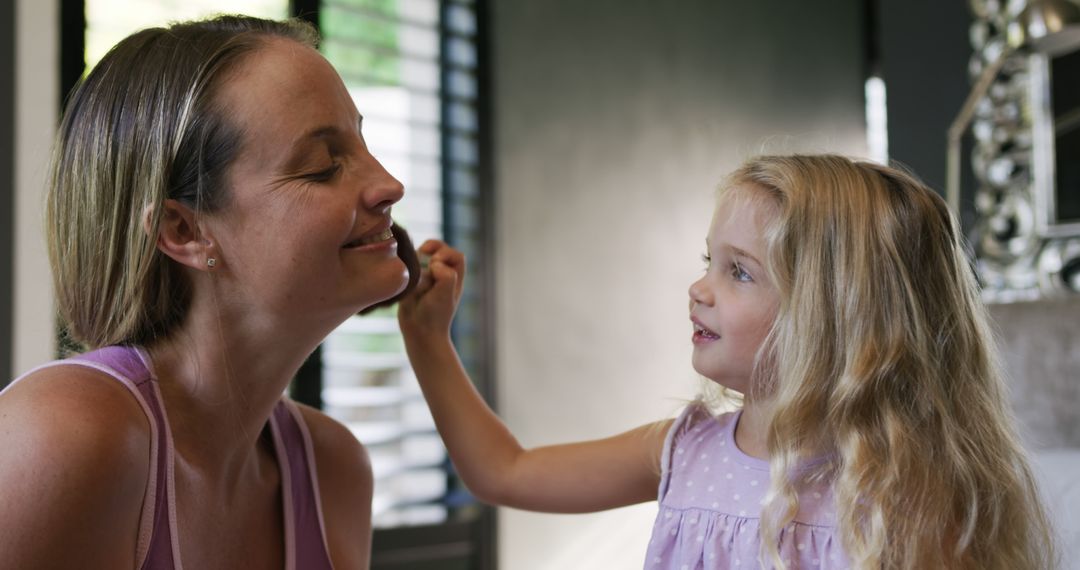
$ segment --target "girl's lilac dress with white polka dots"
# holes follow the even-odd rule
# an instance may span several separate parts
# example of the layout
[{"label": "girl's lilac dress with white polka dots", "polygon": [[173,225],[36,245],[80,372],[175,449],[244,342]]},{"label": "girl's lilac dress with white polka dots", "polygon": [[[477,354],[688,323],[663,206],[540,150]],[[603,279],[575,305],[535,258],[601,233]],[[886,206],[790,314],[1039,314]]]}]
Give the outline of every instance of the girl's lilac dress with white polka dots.
[{"label": "girl's lilac dress with white polka dots", "polygon": [[[769,462],[735,446],[740,411],[715,417],[692,404],[675,420],[661,459],[659,506],[646,570],[757,569]],[[781,531],[794,569],[846,569],[827,485],[800,491],[799,513]]]}]

